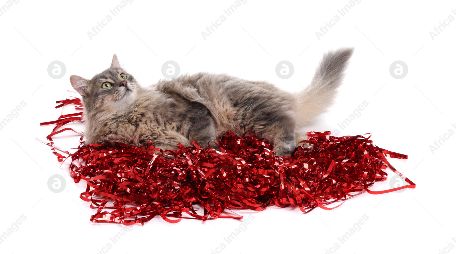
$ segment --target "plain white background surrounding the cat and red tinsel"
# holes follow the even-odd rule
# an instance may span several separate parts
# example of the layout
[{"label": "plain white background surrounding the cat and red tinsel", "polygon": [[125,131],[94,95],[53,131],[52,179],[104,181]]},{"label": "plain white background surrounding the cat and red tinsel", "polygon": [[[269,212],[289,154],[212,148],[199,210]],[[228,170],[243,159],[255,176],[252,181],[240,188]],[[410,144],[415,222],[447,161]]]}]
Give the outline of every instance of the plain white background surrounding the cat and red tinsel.
[{"label": "plain white background surrounding the cat and red tinsel", "polygon": [[[134,0],[113,16],[116,1],[20,0],[0,16],[1,107],[0,119],[26,102],[17,117],[0,131],[1,216],[0,234],[22,214],[17,231],[0,244],[1,253],[203,253],[221,243],[221,253],[440,253],[456,242],[454,211],[456,135],[440,148],[435,140],[455,123],[456,22],[450,22],[433,39],[430,31],[455,13],[454,1],[367,1],[355,4],[346,15],[337,10],[343,1],[254,1],[241,4],[232,15],[234,0],[148,1]],[[0,5],[6,4],[0,0]],[[107,15],[108,22],[91,39],[88,31]],[[202,31],[225,15],[212,35]],[[316,31],[339,15],[336,25],[319,39]],[[401,193],[362,195],[347,200],[332,211],[321,208],[303,214],[298,208],[270,207],[253,213],[254,220],[230,244],[224,237],[241,224],[235,219],[207,222],[182,220],[169,224],[154,218],[135,225],[127,234],[102,249],[121,230],[119,224],[94,224],[95,210],[79,199],[85,184],[73,183],[65,165],[45,139],[52,121],[60,115],[56,100],[74,95],[70,75],[91,78],[109,67],[114,53],[122,66],[142,85],[162,79],[161,66],[176,61],[181,73],[225,72],[251,80],[267,80],[288,91],[309,84],[322,54],[341,46],[355,52],[335,106],[327,109],[311,127],[343,135],[370,132],[379,147],[409,155],[408,160],[390,159],[416,189]],[[66,74],[53,79],[47,73],[52,61],[62,61]],[[289,79],[275,73],[279,61],[295,68]],[[409,72],[403,79],[389,73],[393,61],[404,61]],[[344,121],[362,104],[361,116],[341,130]],[[296,105],[299,107],[299,105]],[[78,138],[62,135],[66,148]],[[56,139],[57,140],[57,139]],[[47,180],[53,174],[66,179],[61,193],[52,193]],[[393,176],[393,173],[389,174]],[[390,180],[376,183],[375,190],[390,188]],[[249,211],[243,211],[248,215]],[[338,237],[366,214],[361,229],[345,242]],[[15,227],[16,229],[16,227]],[[338,249],[330,249],[335,243]],[[446,248],[446,249],[444,249]],[[103,251],[103,252],[102,252]]]}]

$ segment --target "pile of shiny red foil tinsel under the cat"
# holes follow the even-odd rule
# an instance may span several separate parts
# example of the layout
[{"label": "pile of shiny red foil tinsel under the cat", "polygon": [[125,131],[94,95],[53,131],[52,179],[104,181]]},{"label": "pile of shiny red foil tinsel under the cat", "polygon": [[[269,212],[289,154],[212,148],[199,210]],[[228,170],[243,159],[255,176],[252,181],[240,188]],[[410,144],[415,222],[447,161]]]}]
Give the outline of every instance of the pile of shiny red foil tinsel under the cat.
[{"label": "pile of shiny red foil tinsel under the cat", "polygon": [[[56,108],[73,104],[83,110],[79,98],[57,103]],[[240,219],[243,217],[229,215],[227,210],[261,211],[271,205],[295,205],[308,213],[316,207],[334,209],[365,191],[381,194],[415,188],[415,183],[386,160],[407,159],[407,155],[373,145],[370,135],[333,137],[330,132],[309,132],[306,142],[311,146],[296,148],[291,157],[275,157],[268,140],[256,139],[251,132],[237,137],[231,131],[219,138],[221,152],[195,142],[189,147],[179,144],[179,149],[168,154],[151,141],[147,147],[86,145],[82,136],[74,153],[55,146],[52,136],[76,132],[61,127],[78,121],[83,122],[82,112],[42,122],[40,125],[55,127],[47,136],[49,142],[39,141],[51,147],[58,161],[71,158],[74,182],[83,179],[87,184],[80,198],[97,208],[90,217],[92,222],[144,224],[156,215],[171,223],[182,218]],[[383,171],[387,167],[409,185],[369,190],[375,182],[387,179]],[[334,202],[340,204],[328,206]],[[199,208],[203,208],[202,214],[198,214]]]}]

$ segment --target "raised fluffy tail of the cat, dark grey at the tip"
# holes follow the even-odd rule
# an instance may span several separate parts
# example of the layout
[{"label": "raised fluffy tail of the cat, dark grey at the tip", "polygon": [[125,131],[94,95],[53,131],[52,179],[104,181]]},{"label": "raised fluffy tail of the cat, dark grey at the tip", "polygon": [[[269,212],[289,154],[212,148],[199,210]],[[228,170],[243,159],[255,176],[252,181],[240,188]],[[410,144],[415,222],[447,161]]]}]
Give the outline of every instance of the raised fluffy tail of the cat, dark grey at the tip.
[{"label": "raised fluffy tail of the cat, dark grey at the tip", "polygon": [[311,84],[304,90],[295,93],[295,110],[298,125],[306,126],[313,122],[315,117],[326,111],[337,94],[343,74],[352,56],[353,48],[341,48],[327,52],[320,61]]}]

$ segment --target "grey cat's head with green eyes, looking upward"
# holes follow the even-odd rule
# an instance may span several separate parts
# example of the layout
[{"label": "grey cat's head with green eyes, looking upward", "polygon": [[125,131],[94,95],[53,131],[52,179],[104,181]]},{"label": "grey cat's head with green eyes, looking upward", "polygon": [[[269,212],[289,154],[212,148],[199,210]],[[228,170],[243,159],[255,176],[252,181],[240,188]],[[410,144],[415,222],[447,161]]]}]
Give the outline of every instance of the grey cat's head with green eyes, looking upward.
[{"label": "grey cat's head with green eyes, looking upward", "polygon": [[87,111],[118,111],[124,109],[136,97],[140,85],[122,67],[114,54],[111,66],[92,79],[70,76],[73,88],[81,94]]}]

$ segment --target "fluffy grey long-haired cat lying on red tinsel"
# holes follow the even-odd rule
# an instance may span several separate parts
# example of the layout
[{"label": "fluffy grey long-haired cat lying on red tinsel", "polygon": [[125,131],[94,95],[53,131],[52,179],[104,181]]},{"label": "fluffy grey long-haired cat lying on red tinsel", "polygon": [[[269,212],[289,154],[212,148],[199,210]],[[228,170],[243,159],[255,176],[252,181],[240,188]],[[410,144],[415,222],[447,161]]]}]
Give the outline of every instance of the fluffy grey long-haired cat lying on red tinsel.
[{"label": "fluffy grey long-haired cat lying on red tinsel", "polygon": [[251,131],[272,142],[275,156],[290,156],[306,140],[303,127],[332,105],[353,48],[327,52],[311,84],[290,93],[267,81],[200,72],[142,87],[114,54],[92,79],[70,76],[82,96],[85,143],[152,145],[175,150],[180,142],[213,147],[223,131]]}]

